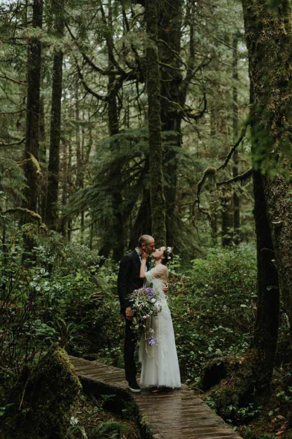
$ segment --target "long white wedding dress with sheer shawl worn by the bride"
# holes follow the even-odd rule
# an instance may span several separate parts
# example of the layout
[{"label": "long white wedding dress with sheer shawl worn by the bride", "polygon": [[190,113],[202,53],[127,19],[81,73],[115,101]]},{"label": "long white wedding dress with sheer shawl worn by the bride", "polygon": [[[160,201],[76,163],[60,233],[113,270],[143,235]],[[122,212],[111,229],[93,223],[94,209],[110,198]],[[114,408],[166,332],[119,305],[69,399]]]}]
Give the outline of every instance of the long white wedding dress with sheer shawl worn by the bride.
[{"label": "long white wedding dress with sheer shawl worn by the bride", "polygon": [[167,296],[162,291],[168,278],[168,269],[163,264],[157,264],[145,274],[144,286],[152,286],[156,292],[156,302],[161,305],[161,312],[149,318],[148,325],[154,329],[153,335],[157,345],[150,346],[142,331],[139,347],[139,361],[142,362],[140,385],[181,387],[181,376],[178,356],[175,346],[171,314],[167,305]]}]

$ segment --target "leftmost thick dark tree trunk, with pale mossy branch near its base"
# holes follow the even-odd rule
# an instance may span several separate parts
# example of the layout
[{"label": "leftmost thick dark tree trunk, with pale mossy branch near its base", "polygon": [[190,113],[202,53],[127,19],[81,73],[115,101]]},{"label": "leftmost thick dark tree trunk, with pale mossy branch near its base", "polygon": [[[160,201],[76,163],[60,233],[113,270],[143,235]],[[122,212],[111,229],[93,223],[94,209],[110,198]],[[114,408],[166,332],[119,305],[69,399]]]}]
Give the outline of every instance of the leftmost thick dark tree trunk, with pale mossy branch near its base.
[{"label": "leftmost thick dark tree trunk, with pale mossy branch near its base", "polygon": [[[33,3],[33,28],[42,27],[43,1],[34,0]],[[39,91],[41,73],[41,43],[37,38],[28,42],[28,73],[27,73],[27,111],[25,132],[25,158],[28,160],[24,166],[27,179],[25,190],[25,207],[37,212],[38,198],[38,136],[39,136]],[[25,220],[24,220],[25,221]]]}]

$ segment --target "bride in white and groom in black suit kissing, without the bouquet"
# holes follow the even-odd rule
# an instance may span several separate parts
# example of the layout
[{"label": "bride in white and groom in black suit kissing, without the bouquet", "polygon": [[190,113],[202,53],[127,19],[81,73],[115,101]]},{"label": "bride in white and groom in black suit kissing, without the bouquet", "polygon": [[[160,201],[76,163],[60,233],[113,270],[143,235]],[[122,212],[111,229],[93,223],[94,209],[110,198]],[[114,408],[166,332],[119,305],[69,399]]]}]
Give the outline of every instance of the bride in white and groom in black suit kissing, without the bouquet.
[{"label": "bride in white and groom in black suit kissing, without the bouquet", "polygon": [[[149,255],[155,261],[150,269]],[[160,312],[153,317],[151,326],[155,331],[156,343],[147,346],[142,328],[139,347],[139,361],[142,362],[140,385],[150,388],[151,393],[158,393],[164,388],[181,387],[180,369],[175,346],[171,314],[167,305],[168,269],[166,264],[172,259],[172,248],[162,246],[155,249],[154,238],[142,235],[137,247],[124,256],[120,262],[118,273],[118,293],[121,314],[125,317],[124,360],[128,387],[132,392],[140,392],[136,381],[137,366],[134,353],[137,344],[137,333],[133,319],[135,312],[131,307],[130,294],[143,287],[151,286],[160,303]],[[142,327],[142,325],[141,325]]]}]

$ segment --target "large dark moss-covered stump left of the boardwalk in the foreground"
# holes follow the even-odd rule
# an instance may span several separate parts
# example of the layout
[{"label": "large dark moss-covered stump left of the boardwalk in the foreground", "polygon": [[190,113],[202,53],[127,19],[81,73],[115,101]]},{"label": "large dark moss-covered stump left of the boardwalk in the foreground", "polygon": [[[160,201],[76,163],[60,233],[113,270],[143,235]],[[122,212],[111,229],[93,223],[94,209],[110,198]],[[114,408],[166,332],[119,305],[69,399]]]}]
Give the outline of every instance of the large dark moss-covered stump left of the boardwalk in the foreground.
[{"label": "large dark moss-covered stump left of the boardwalk in the foreground", "polygon": [[6,439],[65,436],[70,406],[81,389],[64,349],[52,348],[39,364],[23,369],[3,417]]}]

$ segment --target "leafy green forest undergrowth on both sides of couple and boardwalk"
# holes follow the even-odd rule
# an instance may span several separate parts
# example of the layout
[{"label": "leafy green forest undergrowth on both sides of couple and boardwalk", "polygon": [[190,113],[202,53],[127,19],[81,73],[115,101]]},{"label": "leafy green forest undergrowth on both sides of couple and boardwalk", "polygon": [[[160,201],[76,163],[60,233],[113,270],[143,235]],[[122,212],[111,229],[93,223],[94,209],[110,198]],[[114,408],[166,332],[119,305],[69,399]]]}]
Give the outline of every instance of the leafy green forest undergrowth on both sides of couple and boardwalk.
[{"label": "leafy green forest undergrowth on both sides of couple and boardwalk", "polygon": [[[57,233],[33,225],[19,229],[5,221],[6,241],[0,252],[0,416],[9,410],[5,397],[23,367],[36,365],[55,342],[71,355],[124,366],[118,265],[83,246],[66,243]],[[29,251],[27,242],[33,243]],[[216,402],[203,389],[202,367],[210,361],[240,363],[250,346],[256,315],[256,252],[251,244],[215,246],[204,258],[189,262],[186,266],[180,256],[174,257],[168,294],[182,381],[216,411]],[[291,427],[292,380],[286,338],[282,312],[269,401],[263,406],[251,402],[239,409],[229,407],[230,420],[225,421],[232,422],[246,439],[289,437],[285,432]],[[84,408],[87,404],[91,408]],[[88,410],[92,416],[84,416]],[[92,436],[98,430],[94,422],[113,428],[107,437],[137,434],[131,426],[118,430],[121,420],[102,413],[100,402],[92,405],[79,396],[71,410],[68,438],[100,437]],[[92,423],[87,425],[90,418]]]}]

